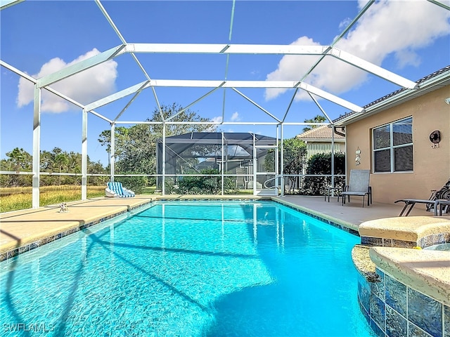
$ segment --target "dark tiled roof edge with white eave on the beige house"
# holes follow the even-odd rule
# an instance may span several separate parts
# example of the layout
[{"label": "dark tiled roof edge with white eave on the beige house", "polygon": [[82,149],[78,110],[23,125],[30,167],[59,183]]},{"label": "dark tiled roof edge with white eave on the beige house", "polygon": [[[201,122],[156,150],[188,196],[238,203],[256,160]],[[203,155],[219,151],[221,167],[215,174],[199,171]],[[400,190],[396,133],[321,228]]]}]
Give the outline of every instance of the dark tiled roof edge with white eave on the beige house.
[{"label": "dark tiled roof edge with white eave on the beige house", "polygon": [[411,100],[430,91],[449,85],[450,65],[419,79],[416,83],[418,84],[418,88],[401,88],[393,93],[383,96],[382,98],[378,98],[378,100],[374,100],[368,105],[364,105],[363,112],[347,112],[346,114],[333,120],[333,124],[337,126],[345,126],[359,119],[364,119],[371,114],[375,114],[392,106],[399,105],[406,100]]}]

